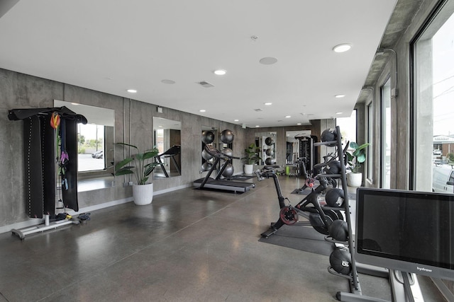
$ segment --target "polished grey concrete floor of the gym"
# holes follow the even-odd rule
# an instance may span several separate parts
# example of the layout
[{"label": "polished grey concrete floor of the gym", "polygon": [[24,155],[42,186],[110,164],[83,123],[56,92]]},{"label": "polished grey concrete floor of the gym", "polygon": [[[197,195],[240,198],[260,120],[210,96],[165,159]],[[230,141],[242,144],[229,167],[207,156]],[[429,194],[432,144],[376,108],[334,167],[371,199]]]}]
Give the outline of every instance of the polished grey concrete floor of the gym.
[{"label": "polished grey concrete floor of the gym", "polygon": [[[302,182],[281,182],[297,202],[290,192]],[[23,241],[0,234],[0,301],[336,301],[349,291],[327,256],[258,241],[279,206],[272,180],[256,184],[244,194],[160,194]],[[443,301],[420,282],[426,301]],[[387,279],[360,275],[360,284],[390,299]]]}]

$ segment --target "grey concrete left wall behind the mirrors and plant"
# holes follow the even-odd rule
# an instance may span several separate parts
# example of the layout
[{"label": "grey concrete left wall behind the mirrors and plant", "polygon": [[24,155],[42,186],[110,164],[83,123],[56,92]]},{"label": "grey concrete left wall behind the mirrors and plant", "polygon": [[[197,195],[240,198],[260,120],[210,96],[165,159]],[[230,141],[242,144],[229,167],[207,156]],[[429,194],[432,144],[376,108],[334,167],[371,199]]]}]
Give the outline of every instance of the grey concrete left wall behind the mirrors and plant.
[{"label": "grey concrete left wall behind the mirrors and plant", "polygon": [[[233,156],[243,157],[246,130],[236,124],[212,120],[187,112],[109,95],[99,91],[58,83],[15,71],[0,69],[0,233],[11,228],[31,226],[41,219],[30,219],[25,214],[23,185],[23,122],[10,121],[8,110],[15,108],[51,108],[54,100],[81,103],[115,110],[115,141],[125,141],[142,149],[153,147],[153,116],[182,123],[182,175],[154,180],[155,193],[192,186],[201,178],[201,126],[231,129],[235,134]],[[123,147],[115,147],[115,161],[123,158]],[[243,173],[243,163],[234,161],[235,173]],[[123,187],[124,178],[116,177],[114,187],[79,192],[80,211],[106,207],[132,200],[131,187]]]}]

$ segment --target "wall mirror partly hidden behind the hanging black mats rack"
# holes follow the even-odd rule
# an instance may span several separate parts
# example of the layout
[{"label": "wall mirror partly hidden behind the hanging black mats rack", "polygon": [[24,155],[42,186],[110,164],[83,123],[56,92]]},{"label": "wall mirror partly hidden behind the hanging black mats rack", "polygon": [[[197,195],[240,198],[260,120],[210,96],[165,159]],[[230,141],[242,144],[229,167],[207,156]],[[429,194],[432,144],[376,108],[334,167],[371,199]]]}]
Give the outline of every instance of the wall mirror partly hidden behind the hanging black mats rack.
[{"label": "wall mirror partly hidden behind the hanging black mats rack", "polygon": [[87,118],[77,124],[77,190],[97,190],[113,185],[115,110],[54,100]]}]

